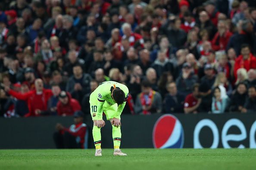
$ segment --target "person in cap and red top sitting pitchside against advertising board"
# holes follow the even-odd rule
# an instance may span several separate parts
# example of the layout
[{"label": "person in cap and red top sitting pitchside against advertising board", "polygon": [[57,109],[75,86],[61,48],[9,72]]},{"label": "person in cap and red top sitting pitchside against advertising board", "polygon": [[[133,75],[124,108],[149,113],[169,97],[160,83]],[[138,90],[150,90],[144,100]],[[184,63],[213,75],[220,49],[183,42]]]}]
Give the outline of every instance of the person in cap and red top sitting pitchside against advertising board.
[{"label": "person in cap and red top sitting pitchside against advertising board", "polygon": [[87,125],[83,123],[84,113],[76,111],[74,113],[74,123],[69,128],[62,124],[56,124],[56,132],[53,140],[57,149],[87,149],[88,134]]}]

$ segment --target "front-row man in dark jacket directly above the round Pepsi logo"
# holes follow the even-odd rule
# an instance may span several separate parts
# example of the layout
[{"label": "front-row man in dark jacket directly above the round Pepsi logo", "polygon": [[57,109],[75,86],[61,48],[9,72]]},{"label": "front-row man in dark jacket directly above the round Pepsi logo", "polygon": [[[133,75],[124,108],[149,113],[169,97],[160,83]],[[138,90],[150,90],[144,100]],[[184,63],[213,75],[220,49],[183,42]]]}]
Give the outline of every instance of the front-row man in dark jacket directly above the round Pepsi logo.
[{"label": "front-row man in dark jacket directly above the round Pepsi logo", "polygon": [[166,113],[183,113],[185,96],[178,92],[175,82],[166,85],[169,94],[164,99],[164,109]]}]

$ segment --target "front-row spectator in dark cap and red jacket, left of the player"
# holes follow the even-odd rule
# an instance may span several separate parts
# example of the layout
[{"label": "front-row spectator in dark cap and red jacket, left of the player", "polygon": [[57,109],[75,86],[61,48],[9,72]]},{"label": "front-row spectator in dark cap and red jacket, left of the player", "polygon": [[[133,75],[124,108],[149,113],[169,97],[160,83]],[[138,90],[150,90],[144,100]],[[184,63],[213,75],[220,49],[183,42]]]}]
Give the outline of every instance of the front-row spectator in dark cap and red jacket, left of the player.
[{"label": "front-row spectator in dark cap and red jacket, left of the player", "polygon": [[73,115],[75,111],[81,110],[79,102],[71,97],[66,91],[59,94],[59,102],[57,103],[58,115]]}]

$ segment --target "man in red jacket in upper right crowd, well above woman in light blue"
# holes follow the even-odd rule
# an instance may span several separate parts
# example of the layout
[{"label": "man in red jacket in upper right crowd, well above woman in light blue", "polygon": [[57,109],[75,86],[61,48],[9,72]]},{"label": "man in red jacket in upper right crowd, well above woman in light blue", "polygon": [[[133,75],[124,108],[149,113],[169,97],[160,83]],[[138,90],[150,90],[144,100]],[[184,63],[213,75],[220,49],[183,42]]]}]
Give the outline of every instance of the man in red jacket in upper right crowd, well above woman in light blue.
[{"label": "man in red jacket in upper right crowd, well above woman in light blue", "polygon": [[227,29],[226,22],[219,21],[218,32],[215,33],[212,39],[212,49],[214,51],[225,50],[231,36],[232,36],[232,33]]}]

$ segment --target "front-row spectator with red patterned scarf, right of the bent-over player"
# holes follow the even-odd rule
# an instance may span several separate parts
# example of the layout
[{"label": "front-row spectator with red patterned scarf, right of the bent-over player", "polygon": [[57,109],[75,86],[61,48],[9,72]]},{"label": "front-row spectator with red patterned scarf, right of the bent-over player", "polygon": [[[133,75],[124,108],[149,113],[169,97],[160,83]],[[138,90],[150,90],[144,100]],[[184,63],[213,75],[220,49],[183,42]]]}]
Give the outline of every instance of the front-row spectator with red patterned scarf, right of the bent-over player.
[{"label": "front-row spectator with red patterned scarf, right of the bent-over player", "polygon": [[161,113],[162,97],[150,87],[150,82],[144,80],[141,82],[141,93],[138,94],[134,111],[136,114],[150,115],[152,113]]}]

